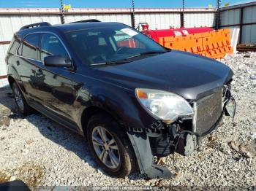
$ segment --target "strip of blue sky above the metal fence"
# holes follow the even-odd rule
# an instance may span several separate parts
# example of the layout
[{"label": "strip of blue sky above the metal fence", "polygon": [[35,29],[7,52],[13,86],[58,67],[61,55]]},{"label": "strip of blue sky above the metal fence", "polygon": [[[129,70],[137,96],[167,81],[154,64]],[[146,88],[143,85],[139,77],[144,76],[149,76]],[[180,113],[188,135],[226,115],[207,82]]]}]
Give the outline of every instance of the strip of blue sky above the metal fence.
[{"label": "strip of blue sky above the metal fence", "polygon": [[[127,8],[132,0],[62,0],[72,8]],[[241,4],[249,0],[222,0],[222,5]],[[185,7],[216,6],[217,0],[185,0]],[[0,7],[50,8],[60,7],[59,0],[0,0]],[[182,0],[135,0],[135,8],[182,7]]]}]

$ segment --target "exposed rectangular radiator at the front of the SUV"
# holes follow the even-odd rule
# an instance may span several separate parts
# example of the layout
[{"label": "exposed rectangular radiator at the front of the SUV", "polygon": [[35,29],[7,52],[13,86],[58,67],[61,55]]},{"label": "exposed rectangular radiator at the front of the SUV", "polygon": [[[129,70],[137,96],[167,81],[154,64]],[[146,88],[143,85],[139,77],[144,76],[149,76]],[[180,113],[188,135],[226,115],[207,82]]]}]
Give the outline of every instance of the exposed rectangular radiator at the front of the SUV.
[{"label": "exposed rectangular radiator at the front of the SUV", "polygon": [[217,122],[222,114],[222,88],[216,93],[208,95],[197,101],[195,115],[195,132],[206,133]]}]

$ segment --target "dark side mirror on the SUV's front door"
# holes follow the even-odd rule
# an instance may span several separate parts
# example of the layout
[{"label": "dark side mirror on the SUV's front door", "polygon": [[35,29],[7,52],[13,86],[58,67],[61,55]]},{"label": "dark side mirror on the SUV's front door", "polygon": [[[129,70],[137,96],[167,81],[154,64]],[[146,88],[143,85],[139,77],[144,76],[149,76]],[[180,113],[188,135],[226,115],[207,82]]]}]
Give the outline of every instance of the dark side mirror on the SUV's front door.
[{"label": "dark side mirror on the SUV's front door", "polygon": [[45,66],[53,67],[71,67],[72,63],[69,59],[63,58],[61,55],[49,55],[44,58]]}]

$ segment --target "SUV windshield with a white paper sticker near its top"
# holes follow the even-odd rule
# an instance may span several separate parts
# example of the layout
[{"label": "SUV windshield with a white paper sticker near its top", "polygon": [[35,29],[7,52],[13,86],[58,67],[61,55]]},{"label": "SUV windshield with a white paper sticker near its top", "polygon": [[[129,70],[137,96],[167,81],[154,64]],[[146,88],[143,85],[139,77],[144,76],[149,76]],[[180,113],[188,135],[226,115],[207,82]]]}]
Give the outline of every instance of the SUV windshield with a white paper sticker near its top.
[{"label": "SUV windshield with a white paper sticker near its top", "polygon": [[132,61],[166,52],[164,47],[139,31],[124,26],[111,25],[67,32],[75,52],[88,65]]}]

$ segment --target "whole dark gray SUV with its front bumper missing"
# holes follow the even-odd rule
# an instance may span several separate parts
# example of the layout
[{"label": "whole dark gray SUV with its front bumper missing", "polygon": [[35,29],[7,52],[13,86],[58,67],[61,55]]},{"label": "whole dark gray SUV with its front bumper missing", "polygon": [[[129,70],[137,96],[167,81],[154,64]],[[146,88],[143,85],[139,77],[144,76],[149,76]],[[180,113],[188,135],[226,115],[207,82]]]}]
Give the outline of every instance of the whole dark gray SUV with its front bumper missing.
[{"label": "whole dark gray SUV with its front bumper missing", "polygon": [[121,23],[23,26],[6,61],[20,112],[37,110],[84,136],[110,176],[170,177],[154,159],[190,155],[234,112],[229,67]]}]

